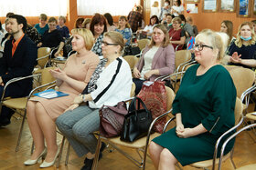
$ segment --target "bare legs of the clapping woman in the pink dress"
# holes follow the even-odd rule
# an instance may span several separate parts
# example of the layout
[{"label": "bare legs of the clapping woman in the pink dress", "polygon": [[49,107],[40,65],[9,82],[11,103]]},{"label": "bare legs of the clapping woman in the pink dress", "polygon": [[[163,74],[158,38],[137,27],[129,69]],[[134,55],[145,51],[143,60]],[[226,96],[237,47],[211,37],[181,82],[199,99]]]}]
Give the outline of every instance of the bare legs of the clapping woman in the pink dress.
[{"label": "bare legs of the clapping woman in the pink dress", "polygon": [[27,122],[35,143],[35,151],[30,159],[36,159],[48,146],[47,162],[52,162],[58,151],[56,142],[56,125],[39,102],[28,101]]}]

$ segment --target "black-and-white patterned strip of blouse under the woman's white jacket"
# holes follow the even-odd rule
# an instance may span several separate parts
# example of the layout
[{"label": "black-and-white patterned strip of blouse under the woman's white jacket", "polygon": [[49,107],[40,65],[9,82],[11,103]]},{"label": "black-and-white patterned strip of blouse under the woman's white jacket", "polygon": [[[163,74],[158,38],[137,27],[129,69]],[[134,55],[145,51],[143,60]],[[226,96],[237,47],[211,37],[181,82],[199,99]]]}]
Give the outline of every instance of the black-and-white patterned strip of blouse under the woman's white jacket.
[{"label": "black-and-white patterned strip of blouse under the woman's white jacket", "polygon": [[96,85],[97,80],[99,79],[102,69],[106,65],[107,61],[108,61],[107,58],[101,59],[99,65],[97,65],[94,73],[91,75],[91,80],[90,80],[89,84],[83,90],[82,94],[90,94],[97,88],[97,85]]}]

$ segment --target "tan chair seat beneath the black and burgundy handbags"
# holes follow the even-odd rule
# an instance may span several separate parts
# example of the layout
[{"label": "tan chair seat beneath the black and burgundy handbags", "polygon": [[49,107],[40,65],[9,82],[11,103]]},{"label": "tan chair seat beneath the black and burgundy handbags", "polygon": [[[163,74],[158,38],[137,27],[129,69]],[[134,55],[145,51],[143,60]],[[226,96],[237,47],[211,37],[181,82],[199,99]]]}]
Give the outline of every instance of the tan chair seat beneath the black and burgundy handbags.
[{"label": "tan chair seat beneath the black and burgundy handbags", "polygon": [[[155,137],[157,137],[159,135],[161,135],[161,134],[154,133],[154,134],[150,135],[149,141],[151,141],[152,139],[154,139]],[[123,145],[125,147],[130,147],[130,148],[142,148],[145,145],[146,136],[134,141],[133,143],[123,142],[122,140],[120,140],[120,136],[108,138],[107,140],[112,142],[115,145]]]}]

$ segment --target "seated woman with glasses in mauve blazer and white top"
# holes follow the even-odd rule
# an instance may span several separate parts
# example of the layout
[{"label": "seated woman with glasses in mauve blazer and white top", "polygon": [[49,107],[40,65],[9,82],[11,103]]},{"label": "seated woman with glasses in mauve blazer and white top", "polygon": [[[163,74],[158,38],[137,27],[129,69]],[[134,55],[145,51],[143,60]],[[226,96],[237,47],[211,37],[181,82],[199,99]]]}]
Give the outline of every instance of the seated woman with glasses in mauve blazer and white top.
[{"label": "seated woman with glasses in mauve blazer and white top", "polygon": [[133,83],[137,95],[145,80],[154,81],[160,75],[172,74],[175,70],[175,50],[169,43],[169,35],[165,25],[155,25],[149,45],[133,68]]}]

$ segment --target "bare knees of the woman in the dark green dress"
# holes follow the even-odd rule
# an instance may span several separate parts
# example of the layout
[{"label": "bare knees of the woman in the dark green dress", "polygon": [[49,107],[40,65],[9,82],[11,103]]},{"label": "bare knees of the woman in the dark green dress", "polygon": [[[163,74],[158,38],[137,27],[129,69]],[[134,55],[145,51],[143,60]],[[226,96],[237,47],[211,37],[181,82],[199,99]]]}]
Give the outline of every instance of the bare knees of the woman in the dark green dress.
[{"label": "bare knees of the woman in the dark green dress", "polygon": [[161,145],[151,142],[149,145],[149,154],[155,165],[155,169],[158,170],[175,170],[177,160],[176,157],[166,148]]}]

